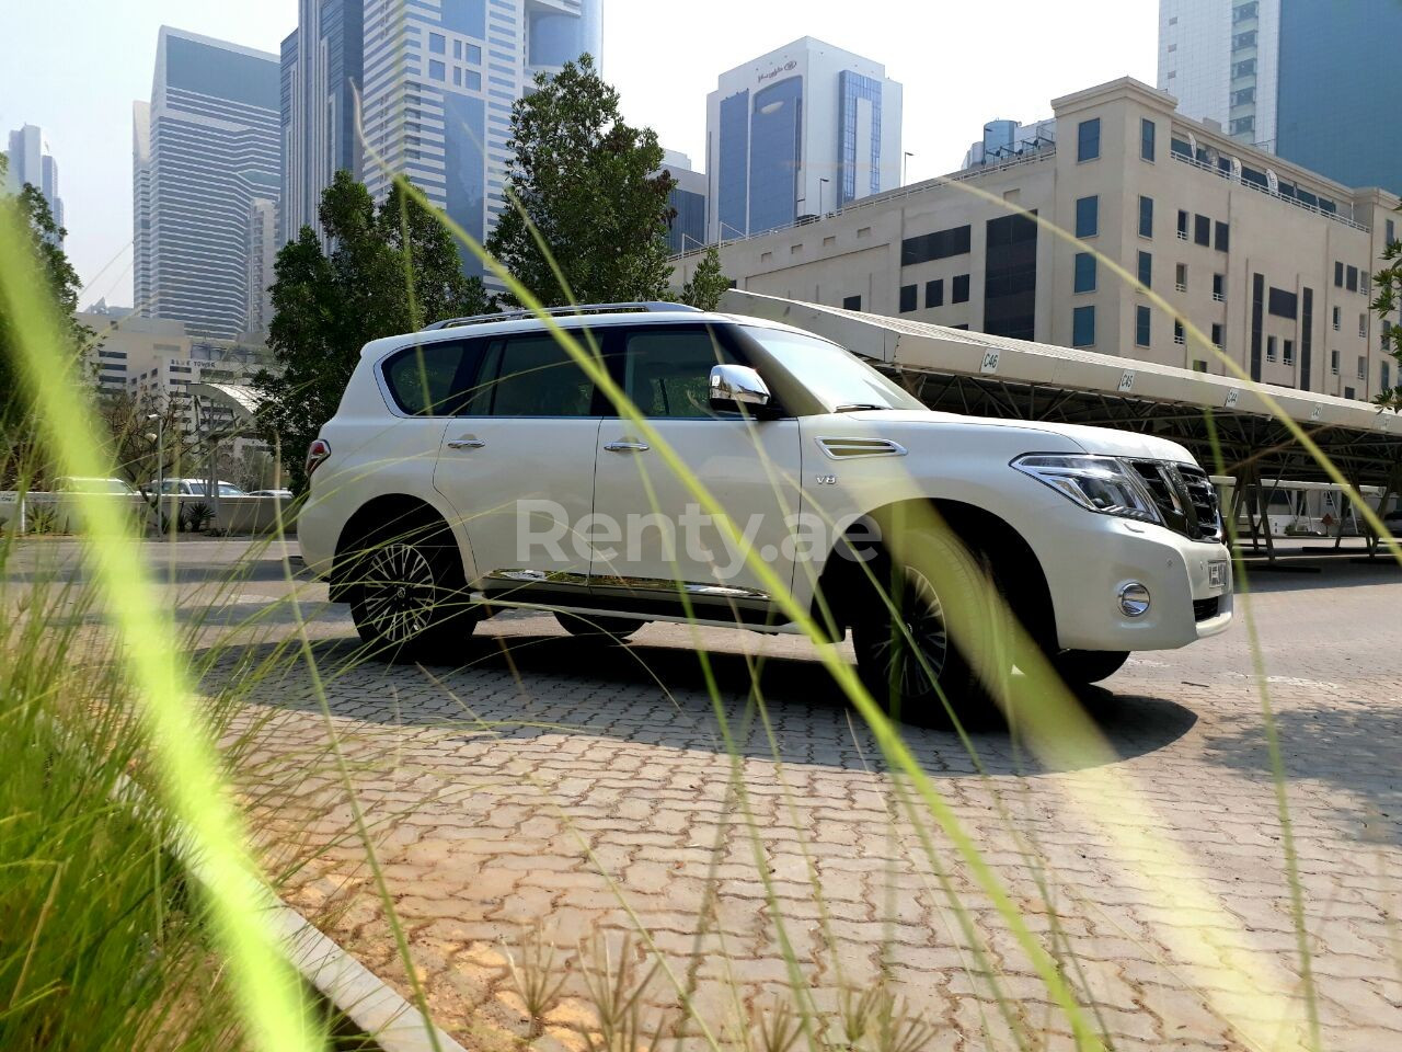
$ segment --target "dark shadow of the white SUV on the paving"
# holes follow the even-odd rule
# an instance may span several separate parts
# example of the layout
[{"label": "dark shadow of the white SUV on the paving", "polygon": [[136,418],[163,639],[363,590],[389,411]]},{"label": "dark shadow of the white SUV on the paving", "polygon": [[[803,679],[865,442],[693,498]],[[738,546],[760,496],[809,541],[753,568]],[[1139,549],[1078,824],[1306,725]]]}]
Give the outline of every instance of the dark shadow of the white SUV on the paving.
[{"label": "dark shadow of the white SUV on the paving", "polygon": [[[348,720],[460,728],[474,738],[597,735],[751,760],[886,767],[861,714],[810,656],[491,630],[464,641],[453,663],[387,665],[349,640],[314,642],[311,654],[332,715]],[[237,680],[255,706],[318,707],[294,649],[231,647],[206,652],[203,663],[206,690]],[[1037,703],[1023,687],[1022,704]],[[1037,774],[1162,749],[1197,720],[1175,701],[1099,687],[1082,690],[1080,704],[1092,734],[1077,735],[1068,720],[1040,759],[997,717],[970,721],[966,738],[949,727],[908,725],[903,736],[931,774]]]}]

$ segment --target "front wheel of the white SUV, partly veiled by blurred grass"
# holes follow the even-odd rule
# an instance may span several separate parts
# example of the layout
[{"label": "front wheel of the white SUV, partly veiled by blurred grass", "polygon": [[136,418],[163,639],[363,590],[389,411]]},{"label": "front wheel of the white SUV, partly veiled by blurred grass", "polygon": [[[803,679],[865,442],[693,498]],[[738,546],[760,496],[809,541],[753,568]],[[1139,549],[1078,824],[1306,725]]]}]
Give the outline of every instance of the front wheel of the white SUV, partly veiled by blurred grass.
[{"label": "front wheel of the white SUV, partly veiled by blurred grass", "polygon": [[1011,672],[1011,623],[984,561],[945,530],[910,530],[899,548],[873,562],[889,602],[869,603],[852,626],[866,689],[908,724],[946,725],[951,710],[994,717],[990,693]]}]

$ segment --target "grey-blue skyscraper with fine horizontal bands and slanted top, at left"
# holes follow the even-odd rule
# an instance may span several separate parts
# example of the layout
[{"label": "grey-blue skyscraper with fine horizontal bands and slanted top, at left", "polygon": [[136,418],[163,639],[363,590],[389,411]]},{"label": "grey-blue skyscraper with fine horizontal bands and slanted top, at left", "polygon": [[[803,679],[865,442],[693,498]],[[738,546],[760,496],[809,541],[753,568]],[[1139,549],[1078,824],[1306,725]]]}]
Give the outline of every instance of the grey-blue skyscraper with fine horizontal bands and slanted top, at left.
[{"label": "grey-blue skyscraper with fine horizontal bands and slanted top, at left", "polygon": [[144,122],[143,109],[133,112],[137,310],[231,338],[250,324],[250,219],[255,202],[276,205],[282,181],[278,56],[161,27]]}]

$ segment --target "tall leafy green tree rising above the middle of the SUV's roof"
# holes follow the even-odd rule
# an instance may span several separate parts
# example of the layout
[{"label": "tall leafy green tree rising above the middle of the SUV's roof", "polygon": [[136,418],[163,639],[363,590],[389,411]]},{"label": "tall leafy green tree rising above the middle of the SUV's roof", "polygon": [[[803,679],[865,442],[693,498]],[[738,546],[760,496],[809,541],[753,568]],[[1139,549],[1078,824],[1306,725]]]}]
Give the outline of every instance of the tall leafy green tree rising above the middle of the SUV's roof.
[{"label": "tall leafy green tree rising above the middle of the SUV's roof", "polygon": [[534,91],[512,107],[509,147],[513,208],[502,213],[486,250],[522,285],[548,307],[666,297],[674,181],[659,171],[658,133],[624,122],[618,93],[589,55],[552,77],[536,77]]}]

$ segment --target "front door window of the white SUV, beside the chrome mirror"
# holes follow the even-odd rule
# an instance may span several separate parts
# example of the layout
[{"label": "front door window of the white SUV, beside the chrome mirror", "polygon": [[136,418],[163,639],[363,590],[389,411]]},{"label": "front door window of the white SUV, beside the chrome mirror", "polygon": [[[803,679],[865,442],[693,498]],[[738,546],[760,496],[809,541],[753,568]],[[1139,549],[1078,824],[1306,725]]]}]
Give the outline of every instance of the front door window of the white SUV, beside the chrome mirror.
[{"label": "front door window of the white SUV, beside the chrome mirror", "polygon": [[711,367],[736,360],[709,330],[672,327],[629,332],[624,390],[646,417],[715,417]]}]

